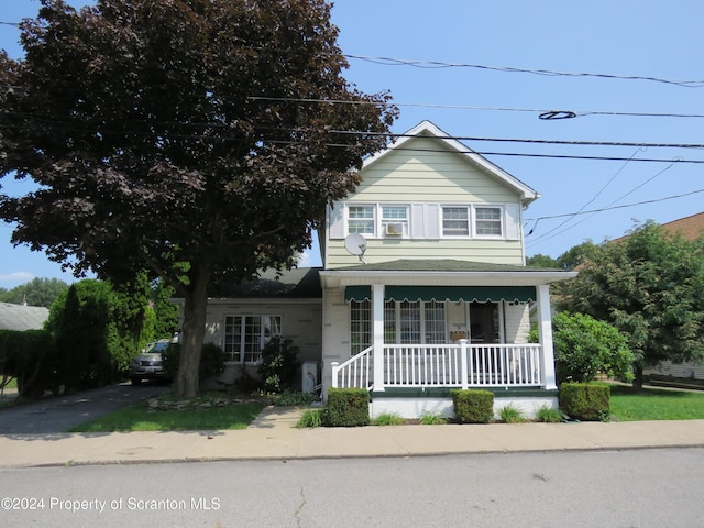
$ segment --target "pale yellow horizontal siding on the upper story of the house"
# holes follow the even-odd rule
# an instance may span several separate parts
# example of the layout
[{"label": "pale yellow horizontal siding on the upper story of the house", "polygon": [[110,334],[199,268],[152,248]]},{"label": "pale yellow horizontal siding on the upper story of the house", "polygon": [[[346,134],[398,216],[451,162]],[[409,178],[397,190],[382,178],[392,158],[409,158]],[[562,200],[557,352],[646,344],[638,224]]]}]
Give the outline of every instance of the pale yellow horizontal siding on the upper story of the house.
[{"label": "pale yellow horizontal siding on the upper story of the house", "polygon": [[[344,238],[351,233],[352,206],[375,208],[374,234],[369,227],[367,232],[360,233],[366,239],[364,261],[369,264],[399,258],[524,264],[521,196],[488,175],[484,167],[468,162],[464,155],[439,151],[442,143],[430,141],[411,140],[403,150],[391,152],[362,169],[362,182],[355,193],[329,210],[323,244],[326,267],[359,263],[359,257],[344,249]],[[407,223],[403,235],[386,234],[385,207],[405,208]],[[451,227],[454,232],[446,231],[450,228],[450,218],[443,218],[446,207],[469,208],[469,227],[461,227],[462,219],[455,218]],[[477,234],[474,207],[501,208],[501,237]]]}]

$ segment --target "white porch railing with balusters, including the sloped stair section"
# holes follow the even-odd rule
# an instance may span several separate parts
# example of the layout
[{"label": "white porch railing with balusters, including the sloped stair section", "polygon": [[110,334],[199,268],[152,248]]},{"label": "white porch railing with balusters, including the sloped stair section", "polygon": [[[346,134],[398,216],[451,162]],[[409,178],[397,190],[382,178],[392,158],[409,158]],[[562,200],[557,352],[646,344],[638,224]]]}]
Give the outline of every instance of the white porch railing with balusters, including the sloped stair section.
[{"label": "white porch railing with balusters, including the sloped stair section", "polygon": [[382,384],[369,348],[332,363],[332,386],[536,387],[544,384],[541,358],[540,344],[385,344]]}]

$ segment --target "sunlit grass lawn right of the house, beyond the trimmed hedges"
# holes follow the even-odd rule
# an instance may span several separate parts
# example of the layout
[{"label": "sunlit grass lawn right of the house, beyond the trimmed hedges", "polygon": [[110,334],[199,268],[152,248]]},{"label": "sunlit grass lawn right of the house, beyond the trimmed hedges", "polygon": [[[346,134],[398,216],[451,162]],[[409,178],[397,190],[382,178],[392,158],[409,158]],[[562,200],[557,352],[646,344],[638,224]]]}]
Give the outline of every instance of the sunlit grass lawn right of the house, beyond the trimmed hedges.
[{"label": "sunlit grass lawn right of the house, beyond the trimmed hedges", "polygon": [[608,386],[610,414],[616,421],[704,419],[704,392]]}]

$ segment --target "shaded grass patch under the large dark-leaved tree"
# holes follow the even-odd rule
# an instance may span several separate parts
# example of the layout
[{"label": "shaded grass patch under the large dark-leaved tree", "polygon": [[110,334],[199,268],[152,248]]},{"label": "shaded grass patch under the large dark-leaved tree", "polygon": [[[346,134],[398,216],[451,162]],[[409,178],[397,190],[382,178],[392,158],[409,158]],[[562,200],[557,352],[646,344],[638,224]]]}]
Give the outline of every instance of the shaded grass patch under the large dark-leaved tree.
[{"label": "shaded grass patch under the large dark-leaved tree", "polygon": [[143,402],[77,426],[68,432],[246,429],[263,408],[261,403],[248,402],[222,407],[154,410]]}]

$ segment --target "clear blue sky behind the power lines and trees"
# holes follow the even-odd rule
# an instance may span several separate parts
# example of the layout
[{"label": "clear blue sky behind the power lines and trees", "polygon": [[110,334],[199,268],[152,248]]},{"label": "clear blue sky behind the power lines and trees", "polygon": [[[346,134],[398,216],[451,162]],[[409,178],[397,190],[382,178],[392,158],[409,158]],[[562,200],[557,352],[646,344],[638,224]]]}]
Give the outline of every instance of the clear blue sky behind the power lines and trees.
[{"label": "clear blue sky behind the power lines and trees", "polygon": [[[3,2],[0,21],[37,9],[35,0]],[[620,237],[635,221],[704,211],[704,164],[688,163],[704,160],[702,148],[479,141],[704,143],[703,2],[338,0],[332,13],[350,55],[346,78],[363,91],[391,90],[400,106],[394,132],[428,119],[450,135],[473,138],[463,142],[540,193],[525,212],[528,255],[557,257],[587,239]],[[16,41],[16,29],[0,24],[0,47],[14,57]],[[546,110],[578,117],[540,120]],[[8,178],[1,184],[3,191],[24,190]],[[620,207],[638,202],[647,204]],[[609,210],[570,216],[602,209]],[[0,224],[0,287],[32,277],[72,280],[42,253],[13,249],[10,235],[11,227]],[[317,248],[305,262],[319,264]]]}]

